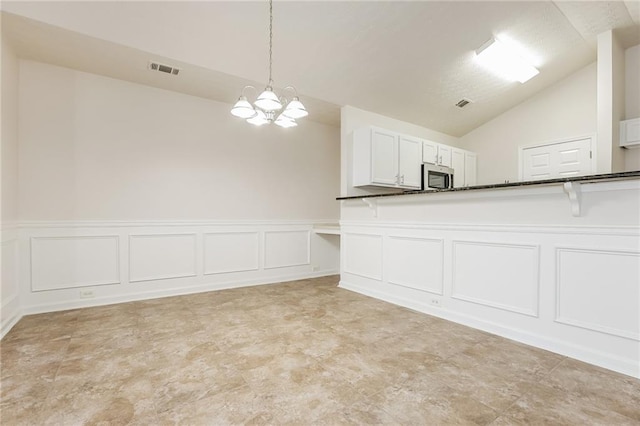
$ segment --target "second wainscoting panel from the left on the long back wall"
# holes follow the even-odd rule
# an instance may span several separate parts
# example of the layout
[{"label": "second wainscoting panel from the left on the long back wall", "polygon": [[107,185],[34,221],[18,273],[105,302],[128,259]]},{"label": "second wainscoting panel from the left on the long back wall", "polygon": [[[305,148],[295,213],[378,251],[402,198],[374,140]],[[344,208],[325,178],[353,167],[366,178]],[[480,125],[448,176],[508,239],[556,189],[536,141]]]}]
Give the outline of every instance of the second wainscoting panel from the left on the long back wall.
[{"label": "second wainscoting panel from the left on the long back wall", "polygon": [[196,234],[129,236],[129,281],[196,276]]}]

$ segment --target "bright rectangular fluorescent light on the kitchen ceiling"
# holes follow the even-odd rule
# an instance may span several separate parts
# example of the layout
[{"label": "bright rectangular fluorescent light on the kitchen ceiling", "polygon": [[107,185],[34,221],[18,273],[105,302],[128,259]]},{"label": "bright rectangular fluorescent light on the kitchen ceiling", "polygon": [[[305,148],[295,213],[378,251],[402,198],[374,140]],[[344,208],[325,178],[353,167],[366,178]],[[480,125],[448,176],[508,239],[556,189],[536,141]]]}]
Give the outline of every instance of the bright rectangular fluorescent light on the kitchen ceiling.
[{"label": "bright rectangular fluorescent light on the kitchen ceiling", "polygon": [[520,83],[540,72],[509,46],[494,38],[476,50],[476,59],[493,72]]}]

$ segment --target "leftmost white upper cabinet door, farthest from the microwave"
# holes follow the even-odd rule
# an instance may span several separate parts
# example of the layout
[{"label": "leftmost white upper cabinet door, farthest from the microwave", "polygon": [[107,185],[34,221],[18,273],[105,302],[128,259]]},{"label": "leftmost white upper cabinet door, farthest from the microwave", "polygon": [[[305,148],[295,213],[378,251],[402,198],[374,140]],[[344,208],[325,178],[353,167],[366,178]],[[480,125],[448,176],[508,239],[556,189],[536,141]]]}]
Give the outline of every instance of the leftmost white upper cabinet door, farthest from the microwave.
[{"label": "leftmost white upper cabinet door, farthest from the microwave", "polygon": [[371,131],[371,183],[398,183],[398,137],[393,132]]}]

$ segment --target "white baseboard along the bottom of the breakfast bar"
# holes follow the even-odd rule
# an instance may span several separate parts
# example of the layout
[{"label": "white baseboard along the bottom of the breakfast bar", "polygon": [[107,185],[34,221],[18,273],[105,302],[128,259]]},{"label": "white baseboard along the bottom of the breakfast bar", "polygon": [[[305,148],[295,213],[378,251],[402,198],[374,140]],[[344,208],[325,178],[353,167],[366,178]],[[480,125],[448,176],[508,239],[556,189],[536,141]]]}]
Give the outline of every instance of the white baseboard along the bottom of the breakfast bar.
[{"label": "white baseboard along the bottom of the breakfast bar", "polygon": [[455,312],[450,309],[436,308],[415,300],[372,290],[370,288],[349,283],[344,280],[340,280],[339,287],[376,299],[380,299],[385,302],[393,303],[395,305],[403,306],[405,308],[409,308],[421,313],[433,315],[435,317],[442,318],[451,322],[486,331],[488,333],[515,340],[520,343],[535,346],[537,348],[545,349],[550,352],[584,361],[589,364],[598,365],[612,371],[640,378],[640,363],[638,362],[638,360],[621,358],[610,353],[596,351],[591,348],[570,344],[548,336],[532,334],[524,330],[507,327],[502,324],[497,324],[495,322]]}]

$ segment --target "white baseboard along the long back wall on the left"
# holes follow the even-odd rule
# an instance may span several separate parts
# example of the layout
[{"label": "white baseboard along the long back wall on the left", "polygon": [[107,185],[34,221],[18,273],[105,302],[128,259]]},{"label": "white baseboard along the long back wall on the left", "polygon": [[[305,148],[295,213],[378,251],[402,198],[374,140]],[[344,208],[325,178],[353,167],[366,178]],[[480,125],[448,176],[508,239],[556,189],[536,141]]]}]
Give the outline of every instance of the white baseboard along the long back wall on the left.
[{"label": "white baseboard along the long back wall on the left", "polygon": [[[47,312],[66,311],[70,309],[89,308],[94,306],[112,305],[116,303],[127,303],[139,300],[158,299],[163,297],[182,296],[187,294],[205,293],[216,290],[226,290],[231,288],[252,287],[257,285],[277,284],[286,281],[295,281],[308,278],[318,278],[329,275],[337,275],[337,270],[315,271],[304,274],[285,274],[268,279],[238,280],[224,283],[207,283],[194,286],[179,286],[171,289],[156,291],[145,291],[129,294],[118,294],[95,299],[80,299],[66,302],[46,303],[39,305],[23,306],[23,315],[41,314]],[[17,322],[17,321],[16,321]]]}]

